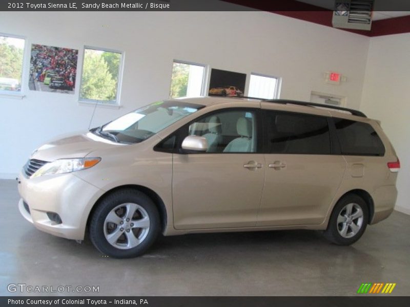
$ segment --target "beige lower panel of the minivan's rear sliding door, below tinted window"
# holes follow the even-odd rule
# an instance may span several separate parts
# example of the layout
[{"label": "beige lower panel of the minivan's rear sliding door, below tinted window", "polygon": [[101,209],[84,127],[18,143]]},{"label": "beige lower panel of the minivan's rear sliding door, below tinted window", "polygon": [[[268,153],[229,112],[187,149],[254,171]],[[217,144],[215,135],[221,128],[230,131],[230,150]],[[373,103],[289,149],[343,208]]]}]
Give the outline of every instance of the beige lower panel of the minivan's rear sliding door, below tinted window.
[{"label": "beige lower panel of the minivan's rear sliding door, below tinted window", "polygon": [[340,186],[342,156],[268,154],[257,226],[321,224]]}]

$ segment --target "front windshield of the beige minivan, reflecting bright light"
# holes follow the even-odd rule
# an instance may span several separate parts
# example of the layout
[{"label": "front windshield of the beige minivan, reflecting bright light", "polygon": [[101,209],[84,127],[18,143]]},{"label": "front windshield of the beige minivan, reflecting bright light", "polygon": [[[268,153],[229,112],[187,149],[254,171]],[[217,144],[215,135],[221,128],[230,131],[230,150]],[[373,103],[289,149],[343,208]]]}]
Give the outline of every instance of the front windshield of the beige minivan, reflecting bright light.
[{"label": "front windshield of the beige minivan, reflecting bright light", "polygon": [[182,101],[158,101],[91,131],[115,142],[139,143],[202,107]]}]

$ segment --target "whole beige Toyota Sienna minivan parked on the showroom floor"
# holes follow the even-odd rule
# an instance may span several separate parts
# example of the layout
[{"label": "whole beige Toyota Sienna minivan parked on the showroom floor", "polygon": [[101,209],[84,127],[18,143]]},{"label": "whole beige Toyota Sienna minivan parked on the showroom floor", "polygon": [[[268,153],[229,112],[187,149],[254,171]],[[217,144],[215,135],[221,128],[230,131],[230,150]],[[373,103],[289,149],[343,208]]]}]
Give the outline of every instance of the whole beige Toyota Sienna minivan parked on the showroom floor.
[{"label": "whole beige Toyota Sienna minivan parked on the showroom floor", "polygon": [[160,232],[317,229],[352,244],[392,213],[400,163],[377,121],[316,106],[155,102],[35,150],[19,210],[57,236],[89,231],[118,258],[144,253]]}]

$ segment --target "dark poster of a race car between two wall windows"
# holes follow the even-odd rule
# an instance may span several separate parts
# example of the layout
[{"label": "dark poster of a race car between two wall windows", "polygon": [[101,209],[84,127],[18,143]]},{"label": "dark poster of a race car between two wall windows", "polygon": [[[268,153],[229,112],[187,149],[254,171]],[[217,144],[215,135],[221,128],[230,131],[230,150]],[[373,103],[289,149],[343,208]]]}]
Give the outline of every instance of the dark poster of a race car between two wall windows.
[{"label": "dark poster of a race car between two wall windows", "polygon": [[246,80],[246,74],[212,69],[208,95],[241,97]]}]

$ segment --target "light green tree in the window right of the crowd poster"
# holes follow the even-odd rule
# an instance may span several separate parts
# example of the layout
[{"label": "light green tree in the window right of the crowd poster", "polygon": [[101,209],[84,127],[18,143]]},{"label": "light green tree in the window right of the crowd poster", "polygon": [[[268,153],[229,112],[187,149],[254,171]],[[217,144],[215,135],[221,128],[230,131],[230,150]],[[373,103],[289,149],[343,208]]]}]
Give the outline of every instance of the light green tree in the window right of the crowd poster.
[{"label": "light green tree in the window right of the crowd poster", "polygon": [[80,89],[81,98],[114,100],[117,90],[116,83],[101,53],[95,50],[86,50]]}]

